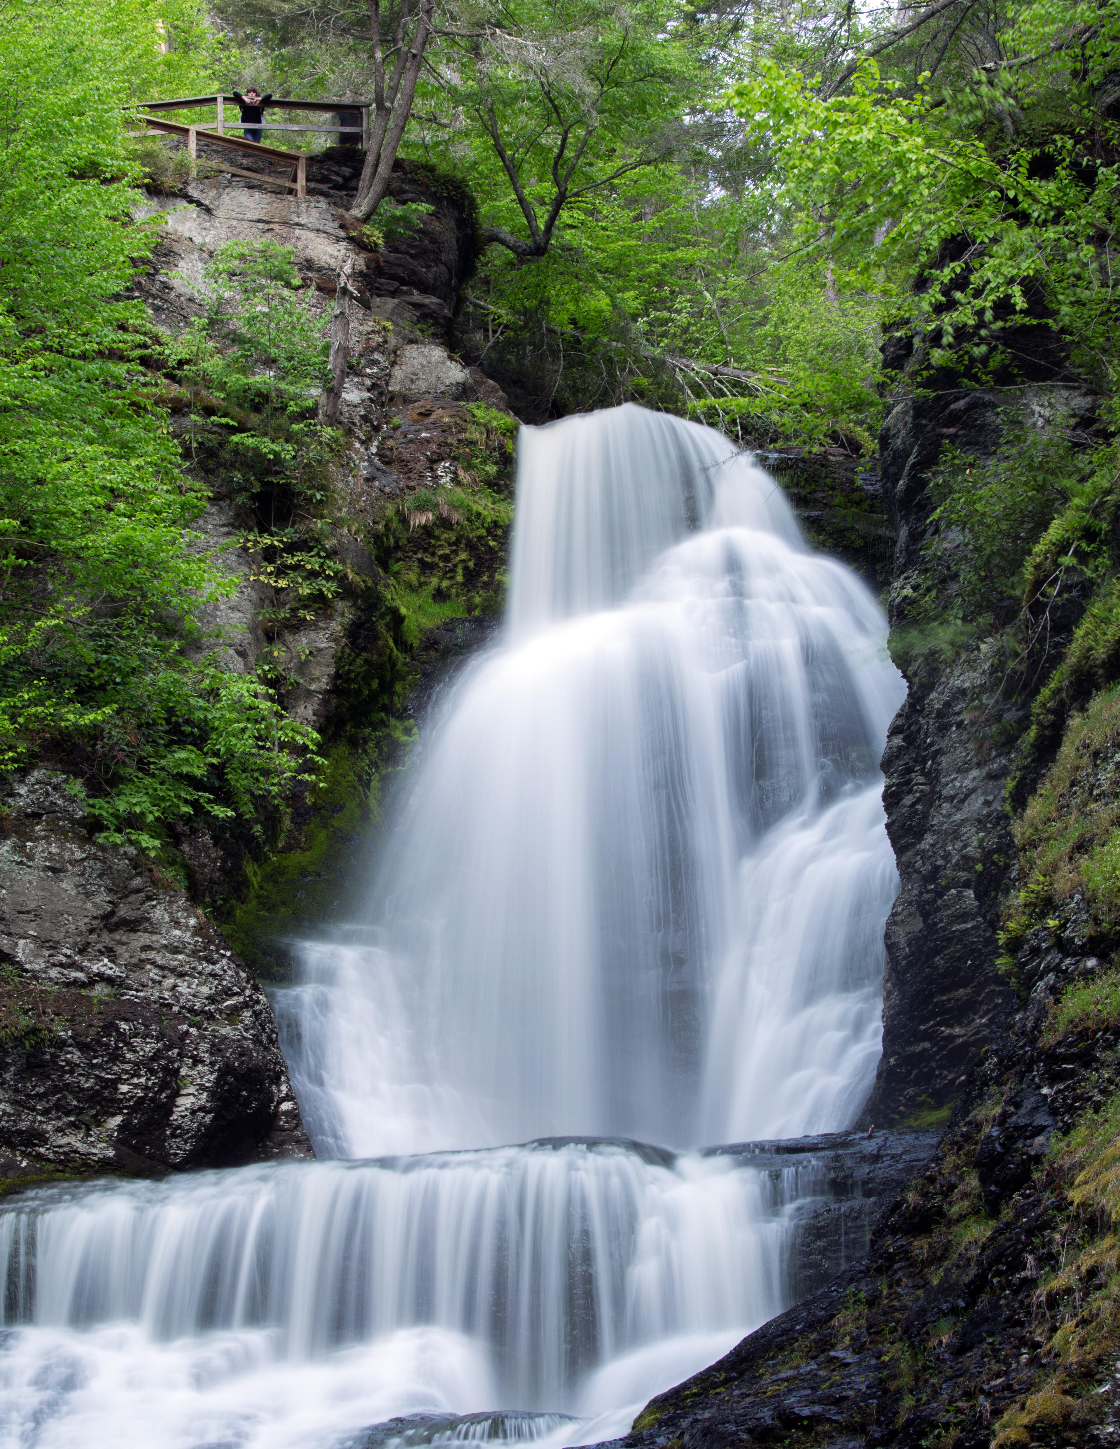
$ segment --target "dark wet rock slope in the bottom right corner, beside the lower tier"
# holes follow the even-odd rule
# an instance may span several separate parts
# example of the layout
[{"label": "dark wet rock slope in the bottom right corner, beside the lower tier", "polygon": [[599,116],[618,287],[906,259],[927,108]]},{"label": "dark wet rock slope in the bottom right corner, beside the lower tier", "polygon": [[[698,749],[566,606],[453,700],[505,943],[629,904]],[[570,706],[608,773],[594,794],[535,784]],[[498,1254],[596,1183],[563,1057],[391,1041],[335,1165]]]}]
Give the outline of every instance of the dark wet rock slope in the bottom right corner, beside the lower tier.
[{"label": "dark wet rock slope in the bottom right corner, beside the lower tier", "polygon": [[[1091,1224],[1071,1211],[1046,1153],[1120,1087],[1120,1027],[1059,1033],[1049,1010],[1063,987],[1104,971],[1100,959],[1046,932],[1024,943],[1016,969],[1035,981],[1030,995],[992,1030],[950,1129],[877,1223],[866,1262],[652,1400],[626,1449],[929,1449],[946,1442],[946,1426],[956,1449],[988,1449],[1023,1404],[1035,1406],[1032,1432],[1003,1443],[1116,1442],[1114,1340],[1107,1319],[1088,1317],[1110,1282],[1075,1268],[1072,1311],[1055,1293]],[[1100,1326],[1104,1374],[1085,1391],[1074,1361],[1063,1381],[1074,1398],[1053,1381],[1058,1339],[1079,1310]],[[1097,1377],[1091,1365],[1081,1372]]]}]

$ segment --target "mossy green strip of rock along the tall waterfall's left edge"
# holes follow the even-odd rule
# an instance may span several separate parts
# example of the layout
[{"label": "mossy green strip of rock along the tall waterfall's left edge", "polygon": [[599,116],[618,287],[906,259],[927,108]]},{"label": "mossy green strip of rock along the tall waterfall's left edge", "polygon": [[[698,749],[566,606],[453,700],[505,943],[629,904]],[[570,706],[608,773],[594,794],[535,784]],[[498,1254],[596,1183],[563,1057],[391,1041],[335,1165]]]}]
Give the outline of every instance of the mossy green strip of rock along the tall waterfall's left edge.
[{"label": "mossy green strip of rock along the tall waterfall's left edge", "polygon": [[241,898],[222,920],[233,948],[265,978],[287,975],[285,939],[336,910],[340,882],[378,817],[387,772],[407,758],[416,735],[414,652],[446,620],[503,607],[510,440],[519,423],[472,404],[455,427],[456,480],[413,490],[365,535],[384,577],[354,594],[323,729],[325,765],[294,794],[271,849],[246,861]]}]

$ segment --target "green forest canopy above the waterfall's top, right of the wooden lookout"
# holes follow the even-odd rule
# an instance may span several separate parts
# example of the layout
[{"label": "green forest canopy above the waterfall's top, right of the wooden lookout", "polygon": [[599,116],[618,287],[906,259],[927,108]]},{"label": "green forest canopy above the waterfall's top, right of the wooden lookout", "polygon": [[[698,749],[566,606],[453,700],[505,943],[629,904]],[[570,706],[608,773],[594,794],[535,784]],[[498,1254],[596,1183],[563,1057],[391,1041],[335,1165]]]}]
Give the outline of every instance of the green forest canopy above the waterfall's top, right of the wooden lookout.
[{"label": "green forest canopy above the waterfall's top, right of the wooden lookout", "polygon": [[[288,93],[368,91],[369,13],[219,6]],[[898,319],[994,365],[1045,309],[1110,372],[1119,26],[1108,0],[440,0],[403,154],[480,199],[465,326],[553,407],[871,448]]]}]

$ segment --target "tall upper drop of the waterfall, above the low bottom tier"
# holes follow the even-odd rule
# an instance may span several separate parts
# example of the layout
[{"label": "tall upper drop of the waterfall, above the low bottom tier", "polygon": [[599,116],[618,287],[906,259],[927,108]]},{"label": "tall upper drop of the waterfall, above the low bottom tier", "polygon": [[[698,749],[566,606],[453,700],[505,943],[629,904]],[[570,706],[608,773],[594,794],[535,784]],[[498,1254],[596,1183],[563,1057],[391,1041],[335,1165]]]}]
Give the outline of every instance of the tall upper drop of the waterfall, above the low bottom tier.
[{"label": "tall upper drop of the waterfall, above the low bottom tier", "polygon": [[523,429],[504,636],[419,761],[372,936],[309,951],[317,1140],[848,1126],[879,1051],[903,694],[868,590],[722,435],[630,404]]}]

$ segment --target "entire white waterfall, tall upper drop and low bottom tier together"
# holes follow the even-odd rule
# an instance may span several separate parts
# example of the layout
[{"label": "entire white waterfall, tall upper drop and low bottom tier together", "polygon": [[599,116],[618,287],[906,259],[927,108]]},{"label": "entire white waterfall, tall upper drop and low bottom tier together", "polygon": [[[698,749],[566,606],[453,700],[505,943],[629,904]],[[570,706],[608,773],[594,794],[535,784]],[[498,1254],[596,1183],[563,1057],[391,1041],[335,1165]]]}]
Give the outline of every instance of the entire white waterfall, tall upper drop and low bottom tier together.
[{"label": "entire white waterfall, tall upper drop and low bottom tier together", "polygon": [[765,472],[636,407],[523,430],[511,574],[365,920],[277,1000],[356,1161],[14,1201],[4,1443],[580,1443],[782,1307],[791,1182],[695,1149],[866,1097],[881,616]]}]

